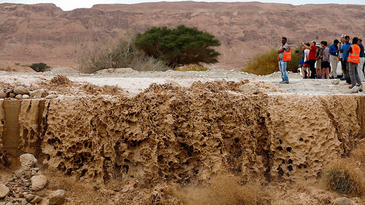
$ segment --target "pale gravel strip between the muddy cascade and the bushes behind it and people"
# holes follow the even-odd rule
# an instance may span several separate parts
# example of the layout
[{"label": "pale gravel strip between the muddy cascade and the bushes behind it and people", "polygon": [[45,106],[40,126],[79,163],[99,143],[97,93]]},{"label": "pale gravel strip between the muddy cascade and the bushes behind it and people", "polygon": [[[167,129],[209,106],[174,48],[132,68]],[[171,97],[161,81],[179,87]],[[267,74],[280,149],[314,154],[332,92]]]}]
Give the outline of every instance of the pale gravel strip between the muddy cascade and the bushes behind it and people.
[{"label": "pale gravel strip between the muddy cascade and the bushes behind it and people", "polygon": [[[117,85],[130,94],[137,94],[148,88],[150,84],[173,83],[183,87],[190,86],[195,81],[207,82],[215,80],[241,81],[248,79],[250,82],[262,86],[259,82],[264,82],[268,86],[266,93],[271,94],[365,94],[364,92],[351,93],[345,81],[340,81],[338,85],[331,84],[331,80],[303,79],[298,73],[288,73],[289,84],[279,84],[281,81],[280,72],[266,76],[243,73],[235,70],[212,69],[208,71],[135,71],[130,68],[106,69],[95,74],[79,73],[70,67],[54,68],[44,73],[18,73],[0,71],[2,82],[25,86],[35,86],[41,88],[42,80],[50,80],[54,76],[62,74],[70,81],[88,82],[91,84]],[[0,85],[1,86],[1,85]],[[59,93],[61,94],[61,93]],[[71,94],[71,93],[70,93]]]}]

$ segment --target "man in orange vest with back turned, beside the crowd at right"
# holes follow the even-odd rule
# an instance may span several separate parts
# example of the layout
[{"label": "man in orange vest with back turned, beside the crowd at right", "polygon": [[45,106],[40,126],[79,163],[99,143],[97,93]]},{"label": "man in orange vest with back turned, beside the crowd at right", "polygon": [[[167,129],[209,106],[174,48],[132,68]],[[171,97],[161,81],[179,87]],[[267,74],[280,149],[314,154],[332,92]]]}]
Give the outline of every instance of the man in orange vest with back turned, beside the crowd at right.
[{"label": "man in orange vest with back turned, beside the crowd at right", "polygon": [[349,54],[349,58],[347,58],[347,62],[349,62],[349,76],[351,79],[349,88],[352,89],[357,83],[360,87],[360,91],[362,91],[362,84],[357,71],[357,63],[360,63],[360,47],[357,45],[357,41],[358,38],[354,37],[352,39],[352,45],[346,51],[346,54]]}]

